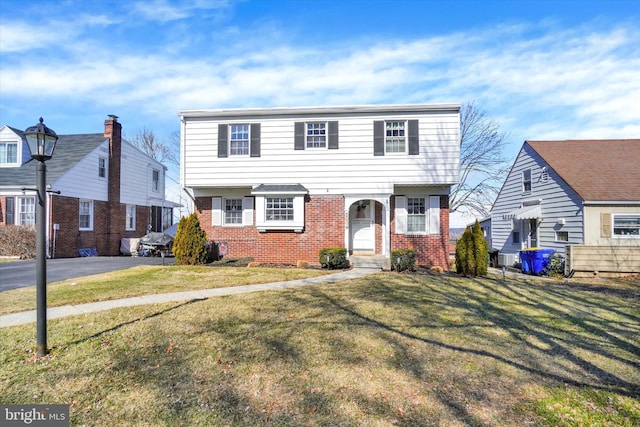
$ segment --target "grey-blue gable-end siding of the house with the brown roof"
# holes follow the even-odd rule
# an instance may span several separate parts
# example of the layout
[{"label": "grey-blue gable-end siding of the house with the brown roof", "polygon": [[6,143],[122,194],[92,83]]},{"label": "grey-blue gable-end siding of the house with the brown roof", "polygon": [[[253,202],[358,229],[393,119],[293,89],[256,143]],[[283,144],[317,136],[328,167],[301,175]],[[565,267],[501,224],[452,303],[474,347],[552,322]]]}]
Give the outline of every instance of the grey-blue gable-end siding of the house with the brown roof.
[{"label": "grey-blue gable-end siding of the house with the brown roof", "polygon": [[[543,168],[547,167],[545,180]],[[531,169],[531,192],[522,191],[522,171]],[[524,144],[513,164],[491,211],[491,242],[502,253],[516,253],[523,246],[512,243],[513,225],[523,240],[522,221],[503,219],[503,215],[516,210],[523,202],[540,200],[542,222],[538,228],[538,246],[555,249],[564,254],[567,244],[584,242],[583,208],[578,195],[542,160],[527,144]],[[562,224],[564,222],[564,224]],[[555,240],[556,231],[569,233],[569,242]]]}]

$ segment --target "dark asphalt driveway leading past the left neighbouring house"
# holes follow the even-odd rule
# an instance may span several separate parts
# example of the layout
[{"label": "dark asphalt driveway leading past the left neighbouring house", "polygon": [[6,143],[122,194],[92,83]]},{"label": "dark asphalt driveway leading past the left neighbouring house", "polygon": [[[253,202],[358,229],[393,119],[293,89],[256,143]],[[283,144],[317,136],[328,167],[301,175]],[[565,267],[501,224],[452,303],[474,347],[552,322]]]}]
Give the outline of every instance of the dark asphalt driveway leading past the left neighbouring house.
[{"label": "dark asphalt driveway leading past the left neighbouring house", "polygon": [[[175,264],[175,258],[161,257],[80,257],[47,260],[47,283],[98,273],[124,270],[136,265]],[[0,292],[35,286],[36,261],[0,262]]]}]

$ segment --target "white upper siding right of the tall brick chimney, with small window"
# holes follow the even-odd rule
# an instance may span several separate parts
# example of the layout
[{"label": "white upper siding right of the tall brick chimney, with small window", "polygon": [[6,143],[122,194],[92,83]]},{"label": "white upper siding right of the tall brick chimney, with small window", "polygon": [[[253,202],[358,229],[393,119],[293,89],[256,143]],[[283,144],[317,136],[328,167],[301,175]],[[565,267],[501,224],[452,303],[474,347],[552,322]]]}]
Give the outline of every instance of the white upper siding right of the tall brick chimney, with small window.
[{"label": "white upper siding right of the tall brick chimney, with small window", "polygon": [[[139,206],[160,206],[164,200],[164,166],[138,150],[122,142],[120,164],[120,202]],[[153,170],[160,172],[158,191],[152,188]]]}]

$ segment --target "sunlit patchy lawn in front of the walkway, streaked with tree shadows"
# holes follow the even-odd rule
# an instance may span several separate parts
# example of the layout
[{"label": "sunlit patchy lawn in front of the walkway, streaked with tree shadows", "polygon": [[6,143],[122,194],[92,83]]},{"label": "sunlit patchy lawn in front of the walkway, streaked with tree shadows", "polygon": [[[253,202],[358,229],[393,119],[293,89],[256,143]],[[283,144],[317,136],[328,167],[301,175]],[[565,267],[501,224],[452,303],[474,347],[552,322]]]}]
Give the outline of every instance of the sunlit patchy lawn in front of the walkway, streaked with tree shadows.
[{"label": "sunlit patchy lawn in front of the walkway, streaked with tree shadows", "polygon": [[[189,269],[171,270],[171,275]],[[378,273],[0,329],[1,403],[72,425],[640,424],[637,283]]]}]

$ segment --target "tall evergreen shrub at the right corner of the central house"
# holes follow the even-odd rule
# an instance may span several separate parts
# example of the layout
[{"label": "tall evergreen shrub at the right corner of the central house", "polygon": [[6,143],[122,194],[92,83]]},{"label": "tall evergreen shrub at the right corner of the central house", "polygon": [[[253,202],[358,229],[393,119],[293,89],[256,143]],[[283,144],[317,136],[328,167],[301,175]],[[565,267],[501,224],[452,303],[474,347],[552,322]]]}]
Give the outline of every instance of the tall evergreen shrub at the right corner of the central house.
[{"label": "tall evergreen shrub at the right corner of the central house", "polygon": [[489,250],[478,221],[464,231],[456,243],[456,271],[465,276],[484,276],[489,264]]}]

